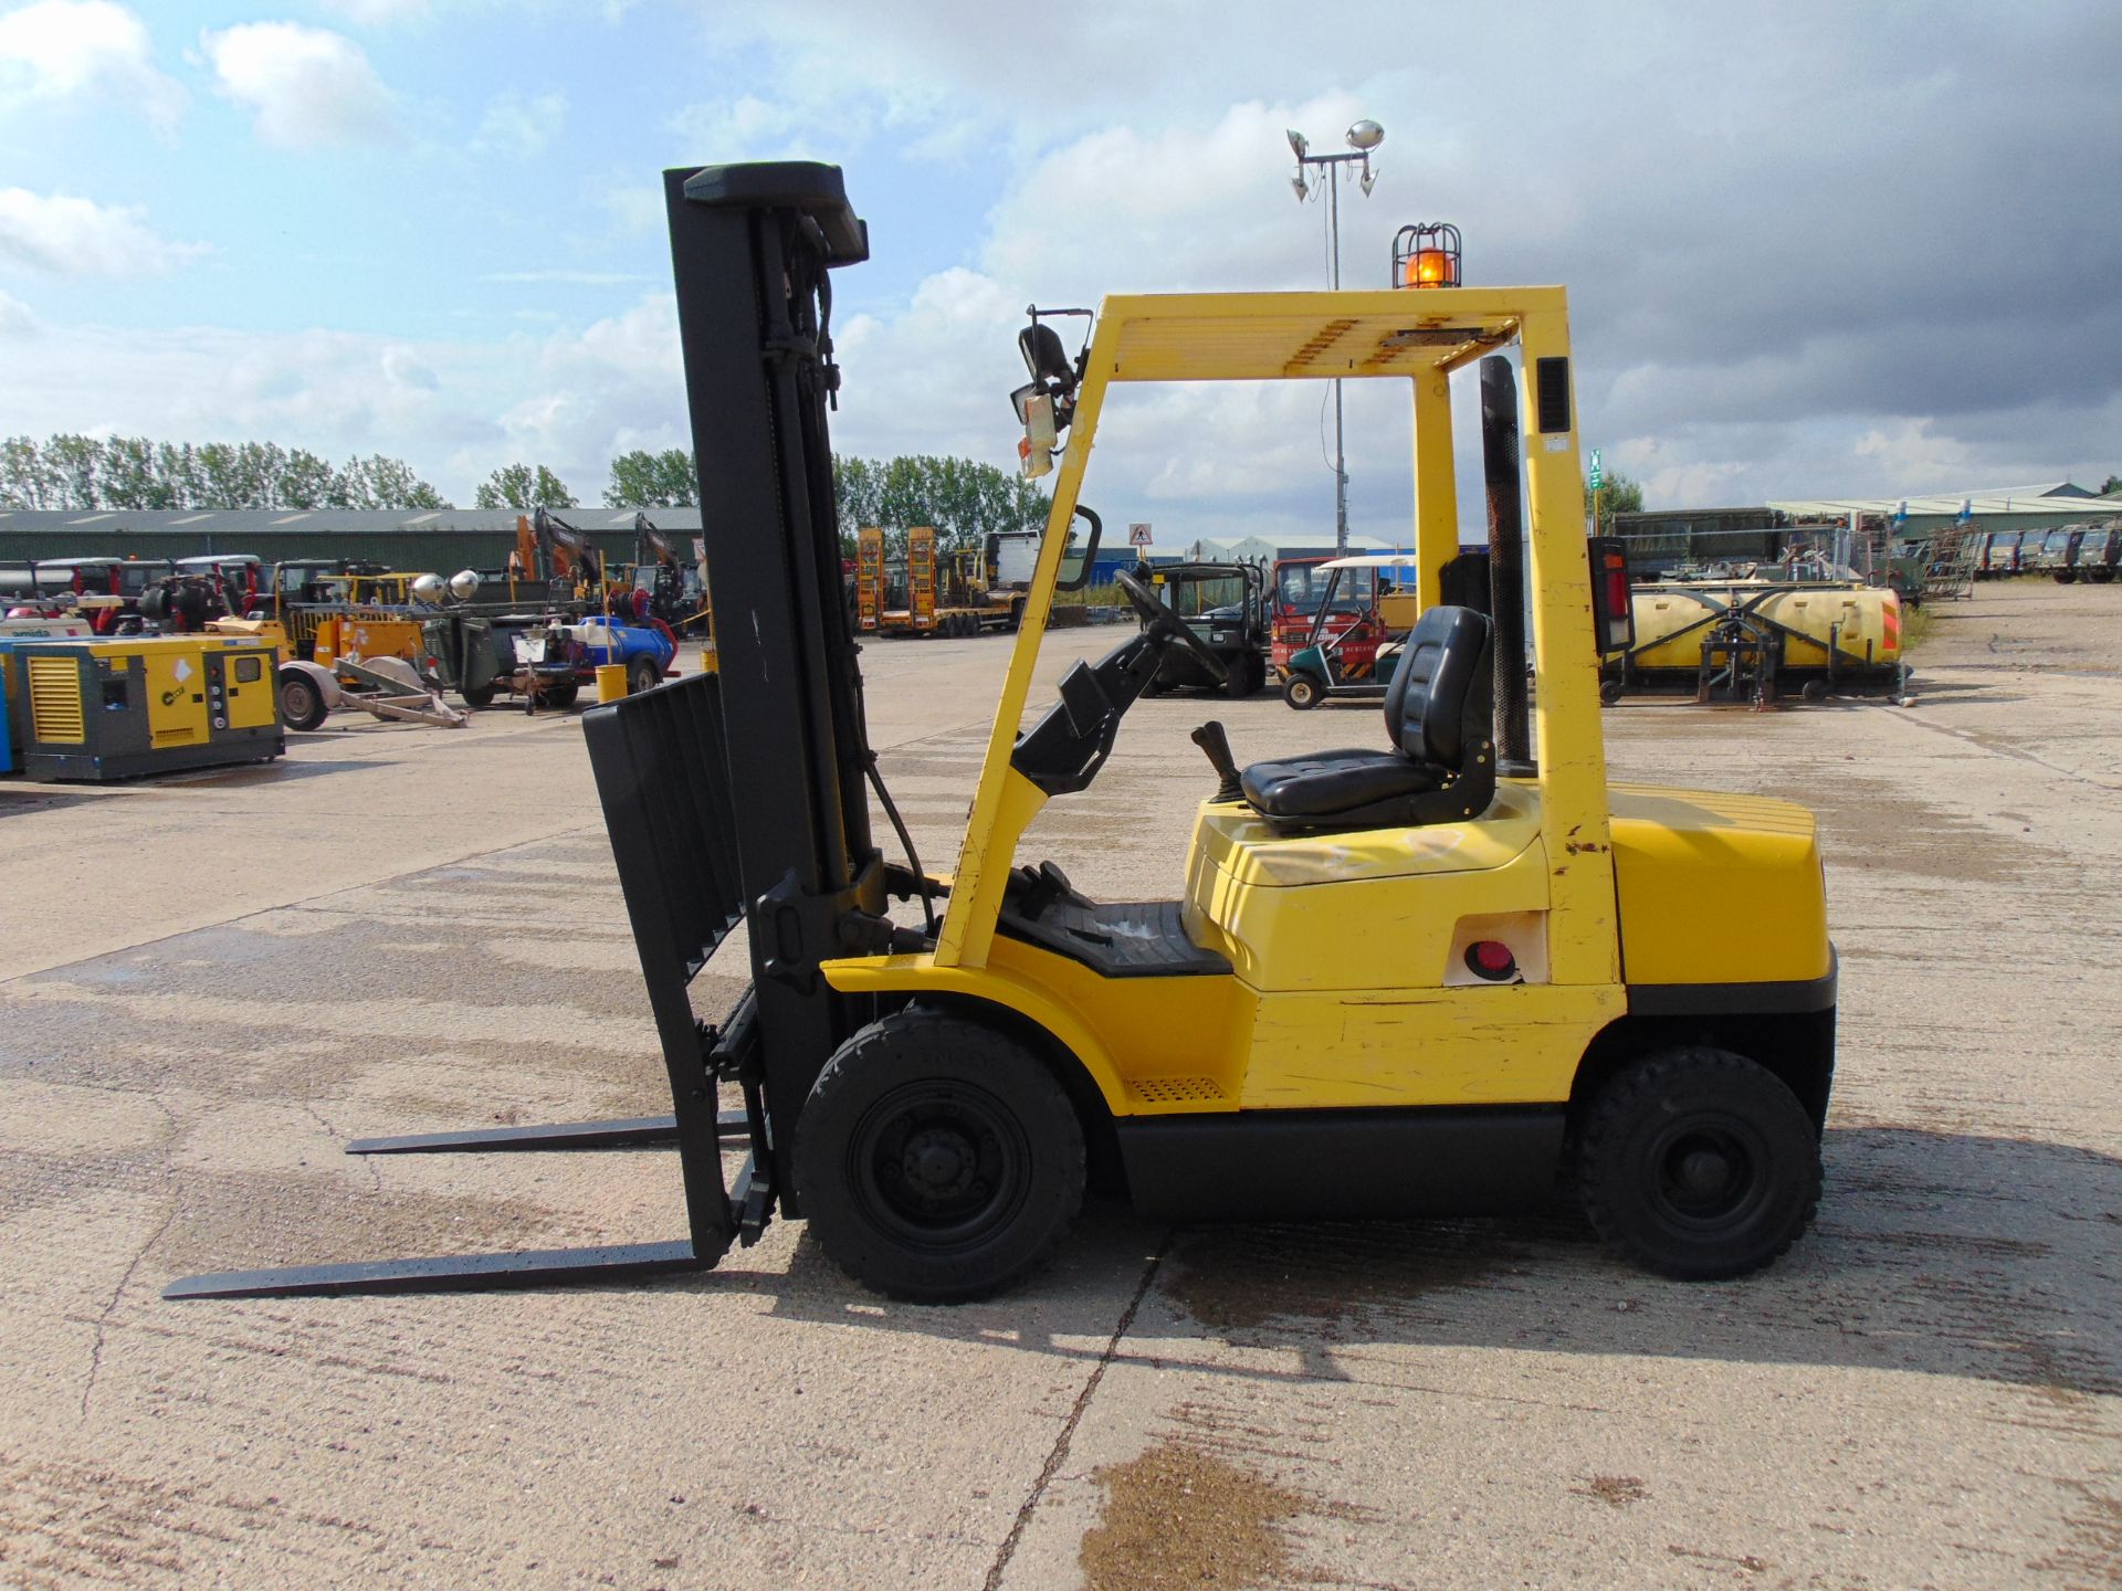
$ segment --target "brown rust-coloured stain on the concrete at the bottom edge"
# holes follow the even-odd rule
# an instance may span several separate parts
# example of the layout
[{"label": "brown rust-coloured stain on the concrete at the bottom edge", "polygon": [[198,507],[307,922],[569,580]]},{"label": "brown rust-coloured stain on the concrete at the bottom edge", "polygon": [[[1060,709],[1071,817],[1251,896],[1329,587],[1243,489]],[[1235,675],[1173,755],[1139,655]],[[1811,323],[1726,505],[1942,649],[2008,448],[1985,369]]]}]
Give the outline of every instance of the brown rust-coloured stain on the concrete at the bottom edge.
[{"label": "brown rust-coloured stain on the concrete at the bottom edge", "polygon": [[1086,1591],[1178,1591],[1290,1585],[1284,1525],[1316,1504],[1205,1447],[1161,1440],[1142,1457],[1093,1470],[1097,1523],[1076,1555]]}]

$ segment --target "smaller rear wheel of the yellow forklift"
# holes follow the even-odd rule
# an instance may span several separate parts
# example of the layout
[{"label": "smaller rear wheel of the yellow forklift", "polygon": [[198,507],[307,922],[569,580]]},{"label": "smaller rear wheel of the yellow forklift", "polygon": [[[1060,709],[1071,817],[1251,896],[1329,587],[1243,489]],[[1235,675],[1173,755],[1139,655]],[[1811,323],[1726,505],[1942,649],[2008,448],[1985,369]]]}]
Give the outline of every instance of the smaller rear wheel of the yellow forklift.
[{"label": "smaller rear wheel of the yellow forklift", "polygon": [[1645,1271],[1742,1277],[1812,1224],[1821,1139],[1766,1067],[1710,1046],[1662,1050],[1594,1099],[1577,1190],[1600,1237]]}]

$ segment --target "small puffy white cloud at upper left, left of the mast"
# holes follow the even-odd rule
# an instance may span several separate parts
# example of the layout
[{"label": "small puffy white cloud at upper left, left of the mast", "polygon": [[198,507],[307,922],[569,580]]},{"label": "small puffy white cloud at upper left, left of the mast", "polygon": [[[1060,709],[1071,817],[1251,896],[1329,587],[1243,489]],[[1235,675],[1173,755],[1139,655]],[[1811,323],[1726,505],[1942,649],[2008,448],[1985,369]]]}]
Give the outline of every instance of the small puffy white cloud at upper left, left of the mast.
[{"label": "small puffy white cloud at upper left, left of the mast", "polygon": [[397,100],[346,34],[250,21],[202,34],[199,45],[221,95],[255,112],[267,144],[316,148],[399,134]]}]

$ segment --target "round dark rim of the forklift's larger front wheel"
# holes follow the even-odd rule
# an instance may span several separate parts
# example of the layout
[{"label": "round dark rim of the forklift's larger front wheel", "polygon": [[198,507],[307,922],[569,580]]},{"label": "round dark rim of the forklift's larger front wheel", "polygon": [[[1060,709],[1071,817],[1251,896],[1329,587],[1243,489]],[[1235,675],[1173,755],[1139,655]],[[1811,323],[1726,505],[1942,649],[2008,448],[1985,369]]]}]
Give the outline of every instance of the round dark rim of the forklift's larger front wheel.
[{"label": "round dark rim of the forklift's larger front wheel", "polygon": [[912,1082],[864,1112],[847,1171],[872,1224],[902,1245],[949,1254],[1016,1216],[1031,1184],[1031,1146],[982,1088]]}]

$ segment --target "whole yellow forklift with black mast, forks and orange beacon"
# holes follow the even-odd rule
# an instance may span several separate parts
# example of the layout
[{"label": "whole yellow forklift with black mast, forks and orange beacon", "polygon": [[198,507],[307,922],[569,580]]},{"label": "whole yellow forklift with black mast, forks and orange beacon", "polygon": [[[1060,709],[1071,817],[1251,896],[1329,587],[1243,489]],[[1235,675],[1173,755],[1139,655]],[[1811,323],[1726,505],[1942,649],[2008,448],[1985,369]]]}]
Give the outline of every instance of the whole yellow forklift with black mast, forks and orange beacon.
[{"label": "whole yellow forklift with black mast, forks and orange beacon", "polygon": [[[781,1213],[879,1292],[961,1300],[1029,1275],[1093,1175],[1188,1222],[1519,1209],[1560,1179],[1672,1277],[1757,1271],[1804,1232],[1836,1014],[1812,817],[1606,781],[1598,658],[1625,641],[1628,592],[1585,539],[1562,289],[1033,312],[1012,397],[1053,509],[957,863],[929,874],[868,745],[832,507],[828,272],[868,257],[866,227],[830,165],[671,172],[666,199],[711,577],[753,622],[724,636],[719,677],[598,706],[584,734],[675,1109],[354,1148],[671,1143],[692,1232],[170,1296],[611,1281],[711,1266]],[[1074,359],[1057,314],[1089,325]],[[1485,600],[1447,602],[1449,378],[1473,367],[1511,392],[1483,414],[1492,462],[1513,462],[1492,471],[1509,492]],[[1095,558],[1095,522],[1089,545],[1067,528],[1106,397],[1335,378],[1403,384],[1415,420],[1422,617],[1384,732],[1239,766],[1203,723],[1193,840],[1152,868],[1176,893],[1091,899],[1019,857],[1025,827],[1097,779],[1167,649],[1201,645],[1123,575],[1144,628],[1074,664],[1019,734],[1055,592]],[[872,842],[870,793],[904,866]],[[700,1012],[690,982],[738,923],[749,986]],[[724,1148],[747,1152],[734,1184]]]}]

